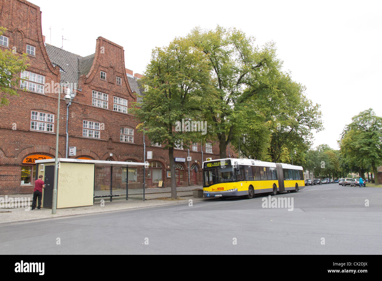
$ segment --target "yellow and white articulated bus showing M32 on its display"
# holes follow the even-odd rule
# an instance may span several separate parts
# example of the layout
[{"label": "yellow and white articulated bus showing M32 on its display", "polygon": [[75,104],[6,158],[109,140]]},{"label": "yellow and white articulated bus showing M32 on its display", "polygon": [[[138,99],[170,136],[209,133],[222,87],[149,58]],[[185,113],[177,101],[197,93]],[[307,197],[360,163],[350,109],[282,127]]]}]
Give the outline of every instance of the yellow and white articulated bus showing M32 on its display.
[{"label": "yellow and white articulated bus showing M32 on its display", "polygon": [[203,162],[204,197],[246,196],[293,191],[305,187],[301,166],[254,159],[217,159]]}]

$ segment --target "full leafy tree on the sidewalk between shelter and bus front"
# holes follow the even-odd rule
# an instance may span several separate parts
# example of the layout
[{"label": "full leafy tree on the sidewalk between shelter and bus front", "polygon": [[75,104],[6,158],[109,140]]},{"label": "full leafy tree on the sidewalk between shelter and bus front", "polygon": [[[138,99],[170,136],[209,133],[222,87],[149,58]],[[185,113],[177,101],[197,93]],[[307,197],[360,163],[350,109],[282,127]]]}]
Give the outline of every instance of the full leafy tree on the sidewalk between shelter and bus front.
[{"label": "full leafy tree on the sidewalk between shelter and bus front", "polygon": [[191,43],[176,38],[168,47],[155,48],[151,62],[141,79],[145,93],[141,107],[134,113],[141,120],[137,128],[156,143],[165,144],[171,167],[171,197],[176,197],[174,147],[188,146],[200,141],[201,132],[176,130],[182,119],[201,120],[204,102],[202,94],[209,89],[209,65],[198,49],[189,49]]}]

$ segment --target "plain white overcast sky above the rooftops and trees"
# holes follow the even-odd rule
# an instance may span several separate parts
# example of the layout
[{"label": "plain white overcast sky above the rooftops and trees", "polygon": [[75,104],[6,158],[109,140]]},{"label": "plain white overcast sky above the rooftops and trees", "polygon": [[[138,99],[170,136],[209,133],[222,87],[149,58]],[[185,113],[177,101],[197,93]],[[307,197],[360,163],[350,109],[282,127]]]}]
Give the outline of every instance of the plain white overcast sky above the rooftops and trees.
[{"label": "plain white overcast sky above the rooftops and trees", "polygon": [[95,52],[95,39],[105,37],[123,46],[134,73],[143,73],[152,48],[195,26],[235,27],[258,45],[274,41],[284,70],[321,105],[325,130],[314,134],[314,146],[338,149],[344,126],[362,110],[382,116],[381,1],[31,2],[42,11],[45,42],[61,47],[64,36],[65,50],[86,56]]}]

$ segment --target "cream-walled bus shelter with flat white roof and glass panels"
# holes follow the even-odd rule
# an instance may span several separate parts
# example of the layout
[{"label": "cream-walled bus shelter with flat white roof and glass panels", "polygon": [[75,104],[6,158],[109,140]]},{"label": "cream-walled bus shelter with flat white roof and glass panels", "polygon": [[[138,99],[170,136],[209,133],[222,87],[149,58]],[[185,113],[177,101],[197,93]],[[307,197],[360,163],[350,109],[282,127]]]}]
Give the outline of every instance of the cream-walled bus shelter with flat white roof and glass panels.
[{"label": "cream-walled bus shelter with flat white roof and glass panels", "polygon": [[[36,179],[43,176],[42,207],[52,208],[55,159],[36,160]],[[129,199],[129,167],[147,167],[142,162],[58,158],[57,209],[91,206],[95,198],[126,196]],[[139,171],[141,171],[139,170]],[[113,188],[114,187],[114,188]],[[113,193],[114,192],[114,193]],[[145,187],[133,190],[134,198],[145,198]]]}]

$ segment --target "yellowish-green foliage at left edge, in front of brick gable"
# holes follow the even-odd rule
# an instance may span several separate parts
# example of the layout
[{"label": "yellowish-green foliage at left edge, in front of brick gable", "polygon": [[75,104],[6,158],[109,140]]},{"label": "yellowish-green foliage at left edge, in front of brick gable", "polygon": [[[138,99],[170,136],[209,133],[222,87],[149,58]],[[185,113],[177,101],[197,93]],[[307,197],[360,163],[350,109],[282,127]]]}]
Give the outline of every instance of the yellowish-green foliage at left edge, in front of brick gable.
[{"label": "yellowish-green foliage at left edge, in front of brick gable", "polygon": [[[6,28],[0,27],[0,35],[5,31]],[[11,50],[0,49],[0,107],[9,104],[8,96],[18,96],[20,73],[29,66],[28,61],[26,54],[19,56]]]}]

